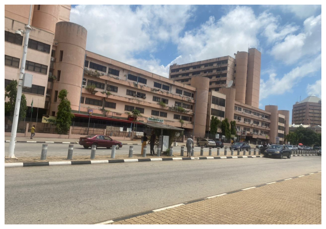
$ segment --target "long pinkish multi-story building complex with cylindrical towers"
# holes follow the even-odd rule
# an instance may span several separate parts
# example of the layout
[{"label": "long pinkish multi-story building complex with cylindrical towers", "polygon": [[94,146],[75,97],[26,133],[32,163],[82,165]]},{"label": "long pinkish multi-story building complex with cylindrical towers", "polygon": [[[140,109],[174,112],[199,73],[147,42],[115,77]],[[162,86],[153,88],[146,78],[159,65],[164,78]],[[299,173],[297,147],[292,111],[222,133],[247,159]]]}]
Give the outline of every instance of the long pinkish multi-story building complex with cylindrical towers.
[{"label": "long pinkish multi-story building complex with cylindrical towers", "polygon": [[[24,38],[15,31],[28,23],[29,10],[29,5],[5,6],[5,86],[19,76]],[[29,111],[28,119],[56,116],[58,95],[66,89],[74,124],[91,122],[127,131],[130,113],[137,109],[140,130],[156,123],[204,137],[216,116],[236,121],[242,140],[282,142],[288,132],[288,111],[271,105],[258,108],[257,49],[238,51],[235,58],[175,64],[166,78],[86,50],[87,29],[69,22],[69,17],[70,5],[33,6],[25,65],[26,73],[33,74],[33,87],[23,93],[38,112]]]}]

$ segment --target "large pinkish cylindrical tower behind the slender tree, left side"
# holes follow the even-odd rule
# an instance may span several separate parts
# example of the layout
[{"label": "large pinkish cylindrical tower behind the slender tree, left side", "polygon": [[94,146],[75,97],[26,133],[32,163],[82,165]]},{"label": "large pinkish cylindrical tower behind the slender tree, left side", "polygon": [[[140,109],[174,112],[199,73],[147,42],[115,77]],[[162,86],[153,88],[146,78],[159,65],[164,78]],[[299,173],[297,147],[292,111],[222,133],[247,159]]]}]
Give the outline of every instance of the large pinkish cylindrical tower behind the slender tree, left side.
[{"label": "large pinkish cylindrical tower behind the slender tree, left side", "polygon": [[[53,82],[50,114],[57,113],[59,99],[56,102],[56,91],[62,89],[68,91],[68,100],[72,110],[78,110],[80,90],[82,90],[82,79],[84,71],[84,60],[86,52],[87,30],[81,25],[61,21],[56,25],[55,40],[58,41],[56,48],[56,65],[53,73],[57,79]],[[60,71],[60,79],[58,73]]]}]

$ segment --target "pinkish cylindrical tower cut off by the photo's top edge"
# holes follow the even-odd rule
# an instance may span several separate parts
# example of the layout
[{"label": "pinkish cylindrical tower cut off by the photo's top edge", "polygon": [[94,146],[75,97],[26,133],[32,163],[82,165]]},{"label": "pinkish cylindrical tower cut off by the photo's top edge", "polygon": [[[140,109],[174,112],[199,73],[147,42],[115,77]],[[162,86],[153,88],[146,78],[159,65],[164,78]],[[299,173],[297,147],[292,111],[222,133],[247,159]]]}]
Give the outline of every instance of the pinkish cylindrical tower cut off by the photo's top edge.
[{"label": "pinkish cylindrical tower cut off by the photo's top edge", "polygon": [[59,13],[60,5],[34,5],[32,26],[54,34]]}]

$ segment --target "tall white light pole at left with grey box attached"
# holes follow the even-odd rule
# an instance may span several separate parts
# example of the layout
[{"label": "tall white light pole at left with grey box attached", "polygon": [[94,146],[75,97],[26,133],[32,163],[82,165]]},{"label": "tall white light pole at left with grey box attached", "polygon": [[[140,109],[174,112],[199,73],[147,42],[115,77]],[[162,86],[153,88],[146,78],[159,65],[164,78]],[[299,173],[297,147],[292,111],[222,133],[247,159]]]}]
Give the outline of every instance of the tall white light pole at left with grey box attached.
[{"label": "tall white light pole at left with grey box attached", "polygon": [[15,140],[17,134],[17,126],[18,126],[18,118],[19,118],[19,109],[20,109],[20,101],[21,101],[21,92],[22,92],[22,80],[25,73],[25,64],[26,64],[26,55],[27,55],[27,47],[29,44],[29,37],[30,32],[32,31],[32,27],[30,26],[31,23],[31,15],[32,15],[32,6],[30,9],[30,17],[29,17],[29,24],[25,26],[25,31],[18,30],[16,31],[16,36],[19,33],[25,34],[24,40],[24,47],[22,51],[22,58],[21,58],[21,66],[20,66],[20,73],[19,73],[19,80],[18,80],[18,89],[17,89],[17,96],[16,96],[16,104],[15,104],[15,112],[14,118],[12,122],[12,129],[11,129],[11,136],[10,136],[10,144],[9,144],[9,151],[6,153],[6,158],[15,158]]}]

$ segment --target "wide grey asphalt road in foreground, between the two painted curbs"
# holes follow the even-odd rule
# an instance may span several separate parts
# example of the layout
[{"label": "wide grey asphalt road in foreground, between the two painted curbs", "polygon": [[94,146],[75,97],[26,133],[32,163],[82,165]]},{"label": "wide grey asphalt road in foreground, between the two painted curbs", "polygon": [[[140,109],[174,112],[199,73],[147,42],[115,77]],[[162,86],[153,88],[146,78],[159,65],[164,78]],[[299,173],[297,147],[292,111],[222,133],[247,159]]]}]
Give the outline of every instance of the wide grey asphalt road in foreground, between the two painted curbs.
[{"label": "wide grey asphalt road in foreground, between the two painted curbs", "polygon": [[96,223],[319,170],[318,156],[6,168],[5,223]]}]

